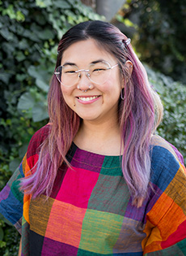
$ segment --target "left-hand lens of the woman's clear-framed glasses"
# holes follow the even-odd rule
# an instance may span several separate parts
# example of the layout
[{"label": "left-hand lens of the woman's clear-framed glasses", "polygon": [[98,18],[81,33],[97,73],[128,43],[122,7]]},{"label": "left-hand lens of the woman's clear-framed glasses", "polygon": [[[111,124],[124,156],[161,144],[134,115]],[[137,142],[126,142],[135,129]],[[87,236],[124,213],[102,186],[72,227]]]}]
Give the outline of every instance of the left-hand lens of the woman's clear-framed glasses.
[{"label": "left-hand lens of the woman's clear-framed glasses", "polygon": [[57,67],[55,75],[62,85],[72,86],[78,81],[77,71],[78,67],[74,65],[60,66]]}]

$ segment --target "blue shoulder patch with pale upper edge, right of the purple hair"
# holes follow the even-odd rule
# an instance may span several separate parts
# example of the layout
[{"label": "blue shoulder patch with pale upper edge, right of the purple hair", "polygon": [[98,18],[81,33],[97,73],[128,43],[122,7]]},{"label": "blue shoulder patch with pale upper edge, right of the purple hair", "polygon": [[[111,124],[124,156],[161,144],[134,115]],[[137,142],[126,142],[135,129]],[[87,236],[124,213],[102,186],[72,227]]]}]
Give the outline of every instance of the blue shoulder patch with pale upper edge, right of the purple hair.
[{"label": "blue shoulder patch with pale upper edge, right of the purple hair", "polygon": [[169,142],[157,135],[151,138],[151,178],[159,189],[166,189],[184,165],[181,163],[180,152]]}]

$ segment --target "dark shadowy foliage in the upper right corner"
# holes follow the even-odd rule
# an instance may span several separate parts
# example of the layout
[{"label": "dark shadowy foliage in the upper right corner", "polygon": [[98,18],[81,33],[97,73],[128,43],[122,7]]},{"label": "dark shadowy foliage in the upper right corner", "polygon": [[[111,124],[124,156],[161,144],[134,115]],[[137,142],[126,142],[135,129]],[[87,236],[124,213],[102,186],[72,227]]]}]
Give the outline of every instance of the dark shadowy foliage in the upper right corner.
[{"label": "dark shadowy foliage in the upper right corner", "polygon": [[[186,1],[127,0],[117,20],[133,27],[133,44],[148,63],[186,84]],[[122,20],[122,16],[124,19]],[[128,18],[128,22],[126,22]],[[133,24],[131,24],[131,20]]]}]

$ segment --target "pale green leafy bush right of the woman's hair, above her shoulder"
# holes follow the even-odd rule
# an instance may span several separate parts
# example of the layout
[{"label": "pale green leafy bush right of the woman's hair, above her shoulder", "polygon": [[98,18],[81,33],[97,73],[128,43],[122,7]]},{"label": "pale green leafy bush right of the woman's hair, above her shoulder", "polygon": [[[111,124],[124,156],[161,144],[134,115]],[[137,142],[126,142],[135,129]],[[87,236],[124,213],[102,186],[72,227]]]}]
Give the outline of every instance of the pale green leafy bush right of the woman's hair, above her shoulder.
[{"label": "pale green leafy bush right of the woman's hair, above her shoulder", "polygon": [[154,72],[147,66],[146,71],[164,106],[163,122],[158,128],[159,135],[180,150],[186,163],[186,86],[175,82],[169,76]]}]

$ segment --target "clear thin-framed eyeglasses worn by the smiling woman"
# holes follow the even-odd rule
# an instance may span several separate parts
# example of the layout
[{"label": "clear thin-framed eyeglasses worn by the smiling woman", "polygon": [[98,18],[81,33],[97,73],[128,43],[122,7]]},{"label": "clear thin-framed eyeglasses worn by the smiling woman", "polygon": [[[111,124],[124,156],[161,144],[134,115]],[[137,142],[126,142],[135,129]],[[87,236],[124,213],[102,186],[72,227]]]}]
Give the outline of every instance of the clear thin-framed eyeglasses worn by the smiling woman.
[{"label": "clear thin-framed eyeglasses worn by the smiling woman", "polygon": [[73,86],[78,83],[78,80],[82,76],[82,72],[85,72],[87,78],[93,83],[102,85],[108,80],[112,68],[117,66],[118,64],[111,67],[110,63],[100,61],[97,63],[91,63],[88,69],[78,69],[74,64],[66,63],[63,66],[57,67],[54,75],[56,75],[57,80],[62,85]]}]

